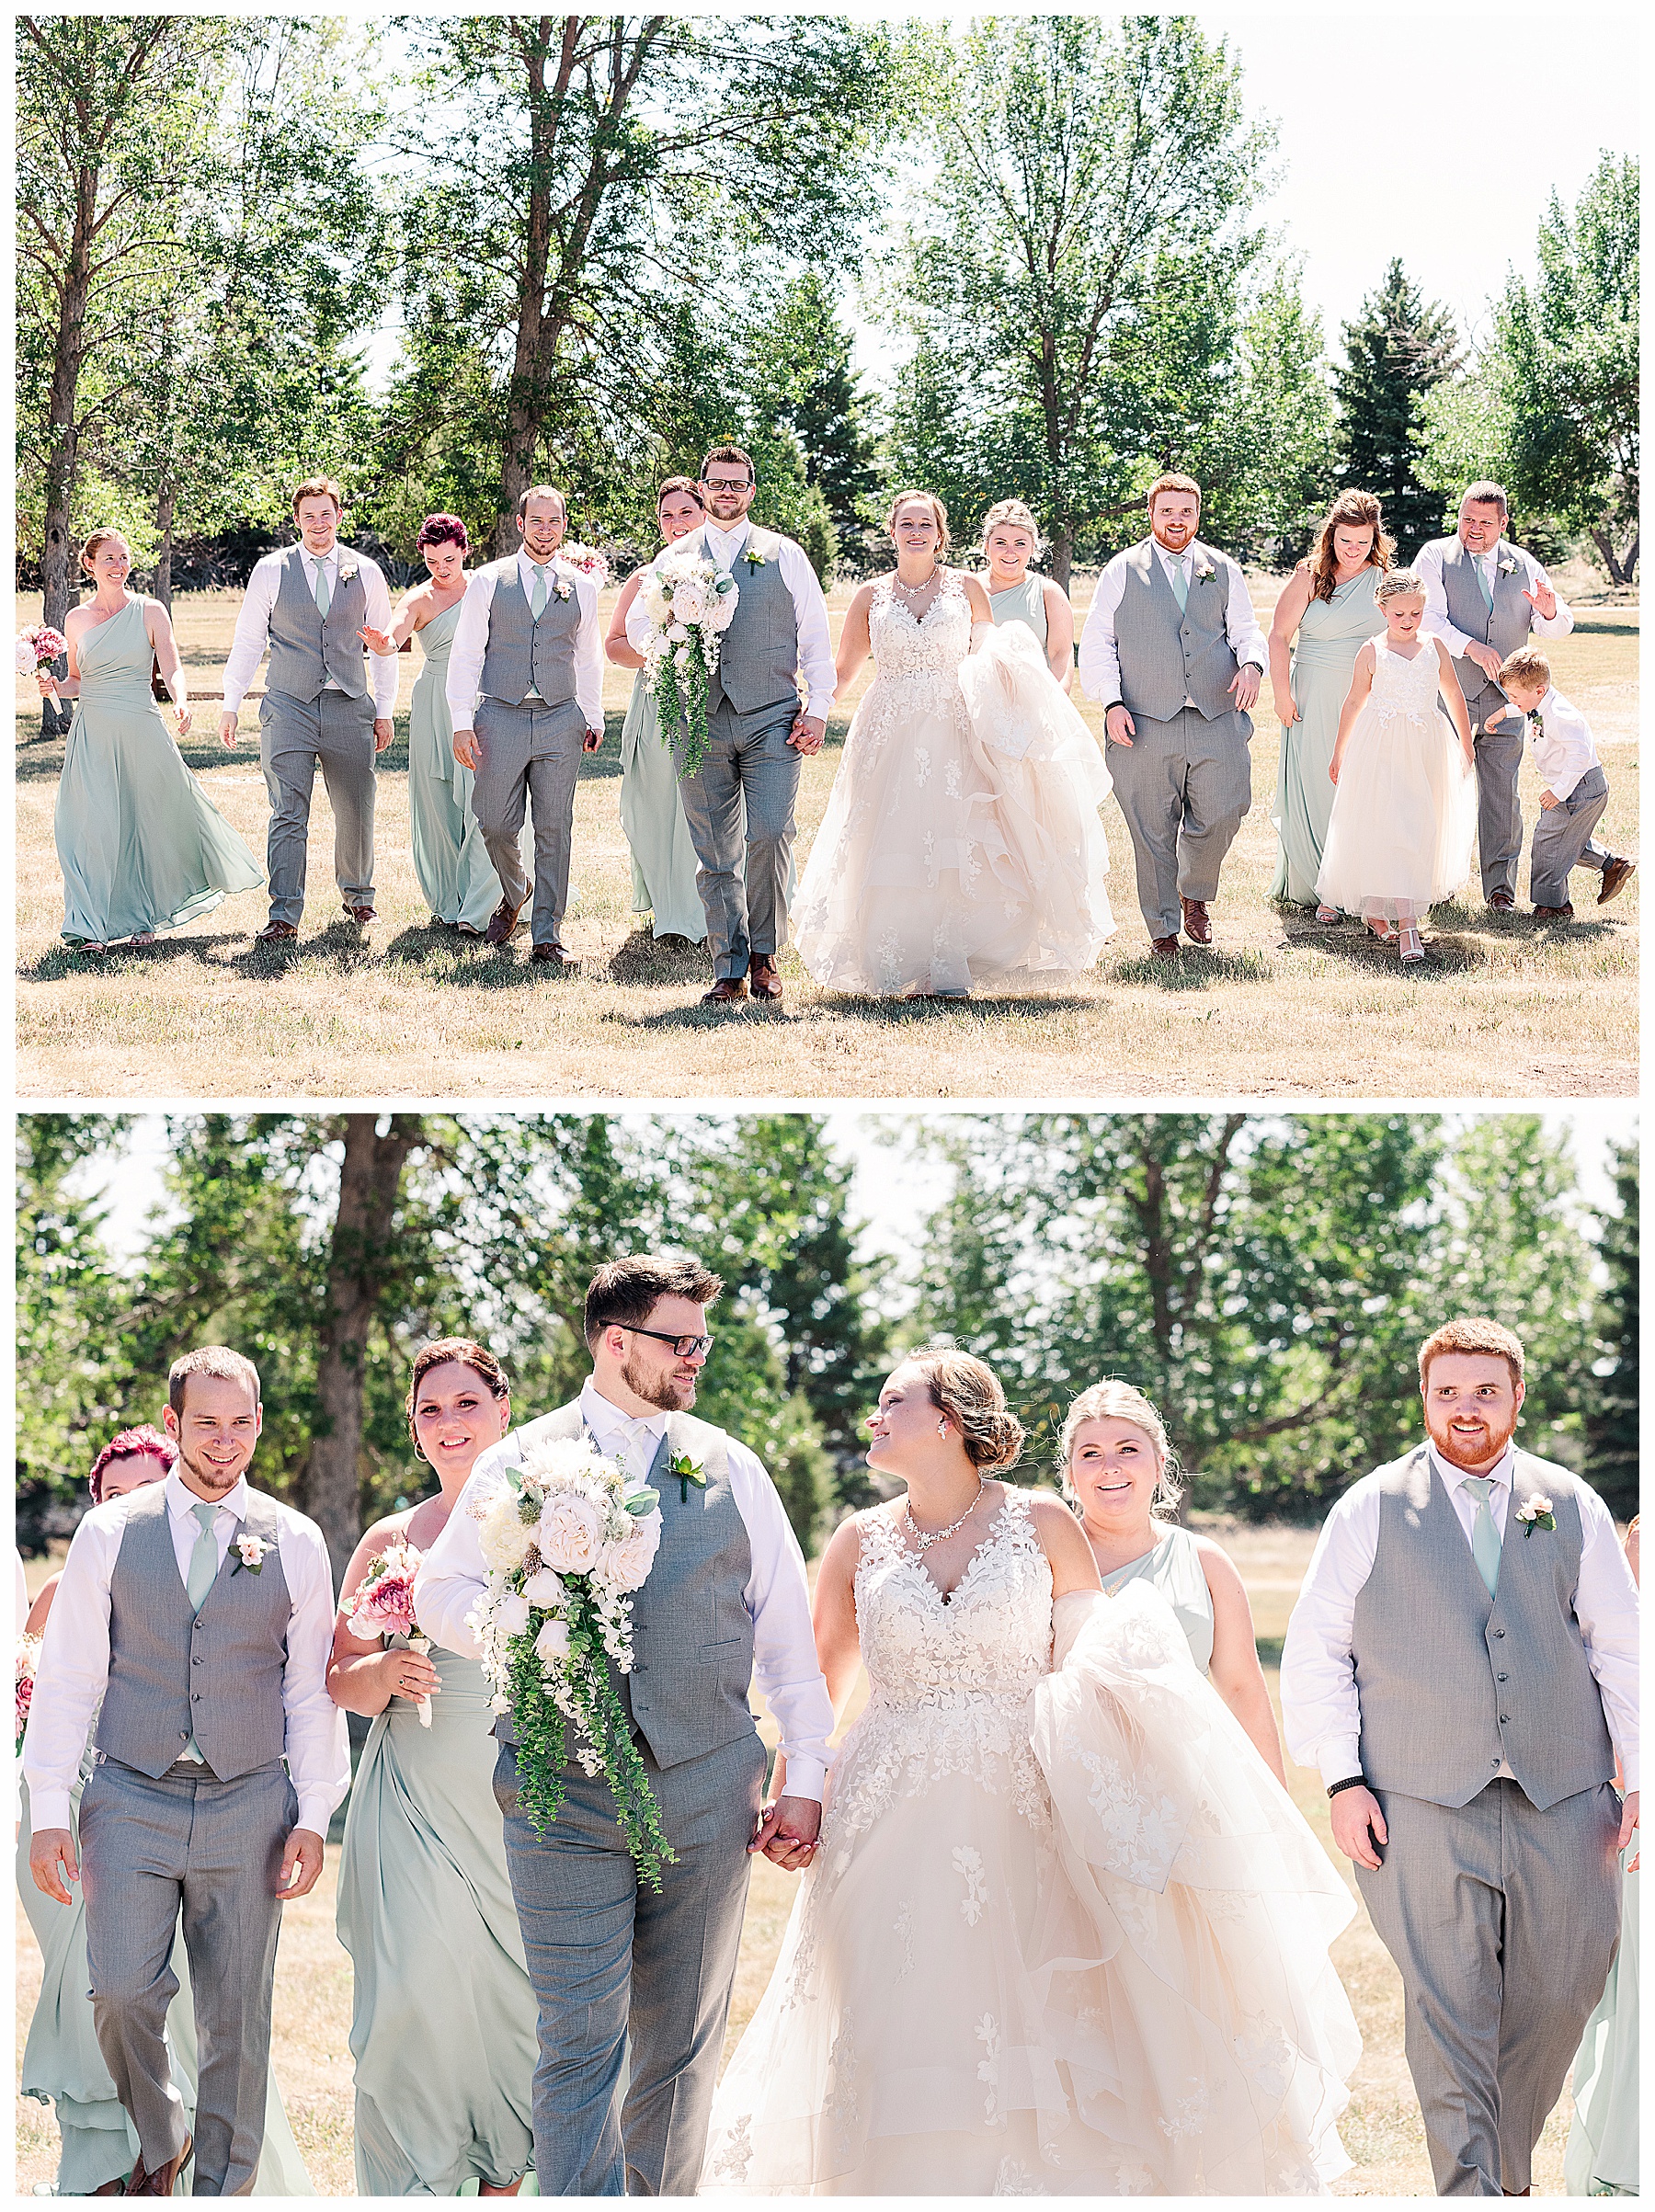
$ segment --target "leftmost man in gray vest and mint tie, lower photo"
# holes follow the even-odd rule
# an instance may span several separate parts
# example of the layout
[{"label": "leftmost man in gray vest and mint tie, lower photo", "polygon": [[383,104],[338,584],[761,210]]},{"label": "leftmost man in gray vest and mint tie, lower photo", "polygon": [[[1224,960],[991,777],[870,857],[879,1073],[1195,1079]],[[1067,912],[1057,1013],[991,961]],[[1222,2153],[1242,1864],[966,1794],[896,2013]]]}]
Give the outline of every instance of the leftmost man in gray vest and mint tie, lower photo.
[{"label": "leftmost man in gray vest and mint tie, lower photo", "polygon": [[[350,1787],[345,1714],[327,1694],[327,1546],[303,1513],[248,1489],[259,1425],[259,1374],[239,1352],[175,1360],[179,1458],[75,1531],[29,1710],[29,1867],[60,1905],[69,1882],[86,1889],[97,2046],[139,2141],[128,2197],[170,2197],[190,2150],[192,2194],[252,2188],[281,1905],[316,1887]],[[69,1792],[93,1714],[77,1865]],[[166,2055],[179,1913],[195,2141]]]}]

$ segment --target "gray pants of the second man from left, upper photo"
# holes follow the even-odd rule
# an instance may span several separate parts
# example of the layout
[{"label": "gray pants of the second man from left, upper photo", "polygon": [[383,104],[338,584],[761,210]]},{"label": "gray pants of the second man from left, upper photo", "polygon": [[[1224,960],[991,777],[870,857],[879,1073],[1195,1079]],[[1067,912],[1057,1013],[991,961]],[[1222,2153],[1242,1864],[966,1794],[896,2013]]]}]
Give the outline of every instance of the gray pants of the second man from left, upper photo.
[{"label": "gray pants of the second man from left, upper photo", "polygon": [[535,905],[529,938],[562,945],[569,905],[569,852],[575,838],[575,781],[586,717],[573,699],[544,706],[524,699],[478,699],[476,719],[482,763],[471,783],[471,812],[509,905],[529,896],[522,865],[522,821],[533,801]]}]

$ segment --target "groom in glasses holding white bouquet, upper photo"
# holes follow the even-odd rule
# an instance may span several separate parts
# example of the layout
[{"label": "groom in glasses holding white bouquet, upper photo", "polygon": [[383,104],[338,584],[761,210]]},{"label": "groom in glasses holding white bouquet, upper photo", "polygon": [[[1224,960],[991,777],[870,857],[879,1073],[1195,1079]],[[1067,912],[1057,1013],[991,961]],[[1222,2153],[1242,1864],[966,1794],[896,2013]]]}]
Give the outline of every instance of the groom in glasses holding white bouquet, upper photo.
[{"label": "groom in glasses holding white bouquet, upper photo", "polygon": [[[706,754],[679,781],[712,951],[706,1006],[746,998],[748,987],[754,998],[781,998],[777,958],[788,938],[799,759],[821,752],[834,703],[828,602],[816,571],[792,538],[752,529],[748,509],[757,489],[752,456],[739,445],[715,445],[701,462],[710,520],[699,535],[679,540],[728,568],[737,584],[735,617],[708,677]],[[648,615],[635,597],[626,641],[642,653],[646,639]]]}]

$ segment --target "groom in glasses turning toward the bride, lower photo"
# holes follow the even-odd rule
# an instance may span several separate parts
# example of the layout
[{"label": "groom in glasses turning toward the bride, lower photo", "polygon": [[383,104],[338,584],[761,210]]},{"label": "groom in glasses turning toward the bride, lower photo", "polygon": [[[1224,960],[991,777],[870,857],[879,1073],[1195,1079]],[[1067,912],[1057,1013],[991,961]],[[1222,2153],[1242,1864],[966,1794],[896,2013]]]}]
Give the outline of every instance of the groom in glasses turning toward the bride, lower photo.
[{"label": "groom in glasses turning toward the bride, lower photo", "polygon": [[[675,1863],[662,1893],[626,1851],[608,1783],[562,1770],[558,1818],[518,1812],[516,1728],[496,1723],[493,1787],[540,2000],[533,2084],[542,2197],[693,2197],[730,2011],[748,1854],[810,1860],[834,1714],[816,1666],[799,1542],[759,1460],[690,1418],[724,1285],[693,1259],[620,1259],[586,1292],[593,1371],[560,1407],[485,1451],[460,1509],[425,1555],[420,1626],[478,1657],[467,1613],[485,1586],[465,1504],[524,1442],[589,1433],[662,1498],[662,1544],[633,1599],[633,1672],[617,1683]],[[686,1453],[697,1478],[666,1473]],[[706,1478],[706,1480],[701,1480]],[[785,1796],[761,1807],[766,1752],[748,1686],[781,1730]],[[622,2064],[628,2066],[622,2104]]]}]

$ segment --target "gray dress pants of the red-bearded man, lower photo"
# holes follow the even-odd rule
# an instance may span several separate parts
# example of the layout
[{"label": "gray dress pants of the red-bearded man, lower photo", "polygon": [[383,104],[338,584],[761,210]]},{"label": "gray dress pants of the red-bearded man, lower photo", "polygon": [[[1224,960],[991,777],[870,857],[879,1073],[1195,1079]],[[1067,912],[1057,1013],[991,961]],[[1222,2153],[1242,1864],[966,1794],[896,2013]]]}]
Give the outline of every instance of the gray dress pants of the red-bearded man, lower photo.
[{"label": "gray dress pants of the red-bearded man, lower photo", "polygon": [[1538,1812],[1511,1781],[1458,1809],[1374,1790],[1387,1843],[1356,1867],[1403,1975],[1407,2070],[1438,2197],[1520,2197],[1620,1944],[1620,1798]]}]

